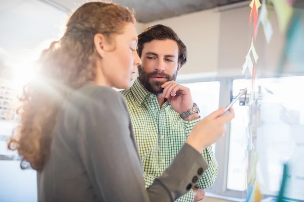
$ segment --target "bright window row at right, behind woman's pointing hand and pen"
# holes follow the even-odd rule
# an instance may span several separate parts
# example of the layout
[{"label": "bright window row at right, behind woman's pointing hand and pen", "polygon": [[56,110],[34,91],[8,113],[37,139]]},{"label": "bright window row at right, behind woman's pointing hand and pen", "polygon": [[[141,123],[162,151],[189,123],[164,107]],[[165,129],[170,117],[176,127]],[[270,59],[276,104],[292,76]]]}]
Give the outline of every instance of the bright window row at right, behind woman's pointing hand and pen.
[{"label": "bright window row at right, behind woman's pointing hand and pen", "polygon": [[[183,83],[189,87],[194,102],[206,116],[230,103],[231,91],[250,86],[251,80],[222,78],[215,82]],[[264,195],[277,195],[283,163],[291,165],[286,196],[304,199],[304,103],[301,86],[304,76],[261,78],[256,80],[259,121],[254,145],[258,153],[256,178]],[[260,87],[259,87],[260,86]],[[250,93],[250,89],[249,92]],[[232,200],[246,198],[246,145],[249,107],[234,105],[236,118],[227,125],[226,135],[216,143],[219,170],[207,195],[230,196]],[[209,192],[209,193],[208,193]]]}]

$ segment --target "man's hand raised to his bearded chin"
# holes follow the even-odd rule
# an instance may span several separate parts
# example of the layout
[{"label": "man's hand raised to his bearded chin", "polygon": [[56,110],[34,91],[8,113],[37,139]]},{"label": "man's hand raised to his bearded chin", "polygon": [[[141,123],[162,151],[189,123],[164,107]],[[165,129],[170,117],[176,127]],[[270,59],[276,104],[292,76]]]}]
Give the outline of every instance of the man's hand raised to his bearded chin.
[{"label": "man's hand raised to his bearded chin", "polygon": [[172,109],[178,114],[184,113],[193,108],[192,96],[190,89],[175,83],[175,81],[168,81],[162,86],[163,97],[170,102]]}]

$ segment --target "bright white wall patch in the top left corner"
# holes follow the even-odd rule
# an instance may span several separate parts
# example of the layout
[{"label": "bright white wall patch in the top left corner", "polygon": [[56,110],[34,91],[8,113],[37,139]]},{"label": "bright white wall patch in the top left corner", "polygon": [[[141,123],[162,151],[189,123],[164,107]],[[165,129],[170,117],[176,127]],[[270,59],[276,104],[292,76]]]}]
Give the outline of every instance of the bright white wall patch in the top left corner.
[{"label": "bright white wall patch in the top left corner", "polygon": [[0,15],[0,47],[17,57],[58,38],[67,19],[64,12],[36,0],[1,1],[0,8],[5,9]]}]

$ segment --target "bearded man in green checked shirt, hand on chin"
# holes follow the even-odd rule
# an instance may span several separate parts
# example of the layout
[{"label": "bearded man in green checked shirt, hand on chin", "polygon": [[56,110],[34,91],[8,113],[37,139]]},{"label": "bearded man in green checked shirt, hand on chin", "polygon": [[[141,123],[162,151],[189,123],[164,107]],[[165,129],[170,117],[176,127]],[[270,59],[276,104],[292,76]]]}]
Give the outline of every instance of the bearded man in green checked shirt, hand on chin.
[{"label": "bearded man in green checked shirt, hand on chin", "polygon": [[[164,25],[151,26],[139,34],[137,53],[142,61],[138,66],[139,77],[122,93],[148,187],[171,164],[201,118],[190,90],[175,83],[187,58],[186,46],[177,34]],[[205,194],[202,189],[214,183],[218,167],[212,148],[206,148],[202,155],[208,161],[208,170],[201,180],[193,179],[197,186],[178,201],[200,200]]]}]

